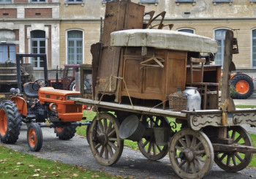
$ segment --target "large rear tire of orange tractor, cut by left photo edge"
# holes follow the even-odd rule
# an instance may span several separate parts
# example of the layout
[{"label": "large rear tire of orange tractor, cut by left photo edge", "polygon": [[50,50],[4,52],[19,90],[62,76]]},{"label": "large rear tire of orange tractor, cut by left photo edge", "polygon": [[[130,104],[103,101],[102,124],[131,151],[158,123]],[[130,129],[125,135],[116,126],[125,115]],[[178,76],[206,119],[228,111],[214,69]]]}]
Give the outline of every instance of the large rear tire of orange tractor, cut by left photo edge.
[{"label": "large rear tire of orange tractor, cut by left photo edge", "polygon": [[10,100],[0,102],[1,142],[12,144],[18,140],[22,121],[18,107]]}]

